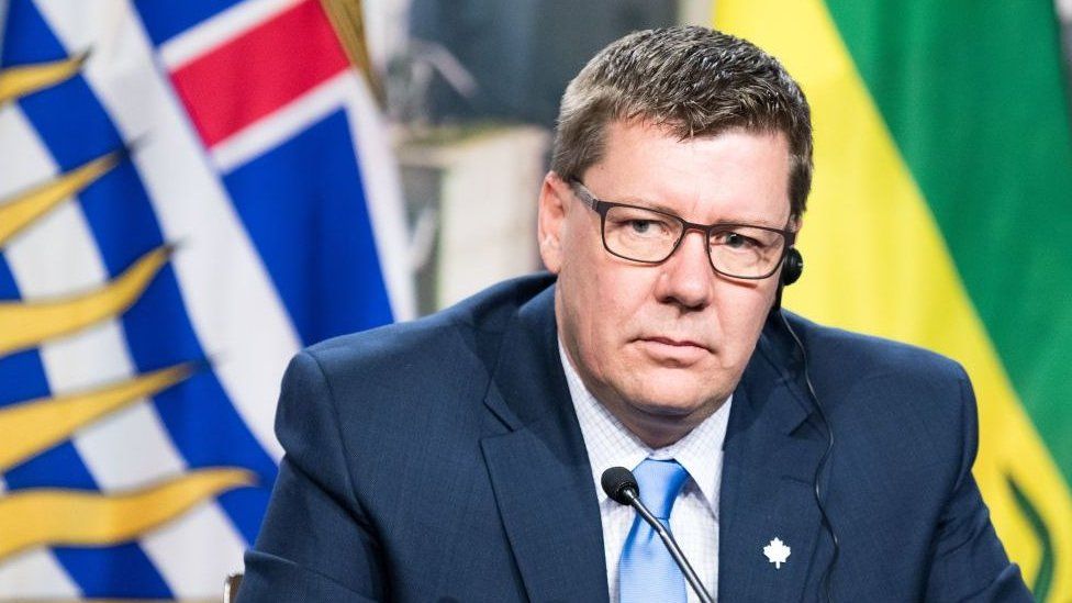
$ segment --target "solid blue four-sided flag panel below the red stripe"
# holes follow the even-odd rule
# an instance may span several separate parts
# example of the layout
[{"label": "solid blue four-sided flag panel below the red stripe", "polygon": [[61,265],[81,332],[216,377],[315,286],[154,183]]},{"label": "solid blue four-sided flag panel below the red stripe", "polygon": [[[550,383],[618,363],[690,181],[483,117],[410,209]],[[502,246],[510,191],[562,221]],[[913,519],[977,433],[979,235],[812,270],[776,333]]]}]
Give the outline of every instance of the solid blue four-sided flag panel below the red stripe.
[{"label": "solid blue four-sided flag panel below the red stripe", "polygon": [[305,345],[391,322],[345,111],[224,178]]}]

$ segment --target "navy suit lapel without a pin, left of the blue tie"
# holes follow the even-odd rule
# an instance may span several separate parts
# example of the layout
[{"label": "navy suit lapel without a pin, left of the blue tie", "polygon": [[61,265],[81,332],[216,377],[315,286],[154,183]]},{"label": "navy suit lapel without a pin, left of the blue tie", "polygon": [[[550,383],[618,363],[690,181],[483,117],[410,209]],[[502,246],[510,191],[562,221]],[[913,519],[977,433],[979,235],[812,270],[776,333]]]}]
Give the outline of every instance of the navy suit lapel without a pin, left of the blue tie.
[{"label": "navy suit lapel without a pin, left of the blue tie", "polygon": [[606,601],[592,470],[558,356],[554,287],[504,336],[484,403],[511,429],[481,447],[533,601]]}]

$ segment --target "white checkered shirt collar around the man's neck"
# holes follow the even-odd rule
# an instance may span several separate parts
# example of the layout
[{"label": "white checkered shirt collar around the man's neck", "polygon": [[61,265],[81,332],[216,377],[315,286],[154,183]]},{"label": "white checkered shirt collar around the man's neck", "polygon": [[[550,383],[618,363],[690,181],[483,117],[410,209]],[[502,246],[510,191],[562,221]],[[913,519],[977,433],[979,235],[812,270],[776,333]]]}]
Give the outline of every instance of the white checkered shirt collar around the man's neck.
[{"label": "white checkered shirt collar around the man's neck", "polygon": [[561,343],[558,345],[558,354],[562,370],[566,372],[570,398],[573,400],[573,410],[581,426],[581,435],[584,437],[584,447],[588,449],[600,504],[607,500],[600,483],[600,478],[606,469],[611,467],[634,469],[648,457],[673,458],[685,468],[717,516],[722,481],[722,446],[726,439],[729,407],[734,397],[730,394],[717,411],[684,437],[669,446],[655,449],[641,442],[592,395],[570,362]]}]

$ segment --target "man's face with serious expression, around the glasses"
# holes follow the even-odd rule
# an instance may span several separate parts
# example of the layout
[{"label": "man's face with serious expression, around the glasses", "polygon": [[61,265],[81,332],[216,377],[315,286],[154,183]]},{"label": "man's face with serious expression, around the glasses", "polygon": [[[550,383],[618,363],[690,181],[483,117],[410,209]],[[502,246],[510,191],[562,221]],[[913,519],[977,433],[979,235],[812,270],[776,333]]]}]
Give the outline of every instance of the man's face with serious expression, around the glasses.
[{"label": "man's face with serious expression, around the glasses", "polygon": [[[784,135],[732,131],[681,141],[615,122],[583,183],[601,200],[689,222],[789,223]],[[559,337],[584,384],[652,446],[670,444],[733,393],[773,303],[778,273],[716,273],[690,231],[669,259],[644,265],[603,248],[600,216],[549,174],[540,191],[540,255],[558,275]]]}]

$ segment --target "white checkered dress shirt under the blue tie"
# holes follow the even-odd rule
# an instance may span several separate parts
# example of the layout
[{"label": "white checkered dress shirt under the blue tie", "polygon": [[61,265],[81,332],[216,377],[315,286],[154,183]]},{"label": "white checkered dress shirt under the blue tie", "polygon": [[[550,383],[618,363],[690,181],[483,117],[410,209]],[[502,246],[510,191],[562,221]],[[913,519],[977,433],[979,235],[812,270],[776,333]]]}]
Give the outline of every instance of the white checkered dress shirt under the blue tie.
[{"label": "white checkered dress shirt under the blue tie", "polygon": [[[670,513],[670,531],[712,596],[718,593],[718,489],[722,480],[722,445],[733,395],[713,415],[685,437],[665,448],[654,449],[640,442],[606,410],[581,381],[561,344],[558,347],[569,383],[584,447],[592,465],[592,479],[600,499],[603,521],[603,552],[606,557],[606,585],[611,601],[618,600],[618,559],[636,516],[633,507],[612,501],[603,492],[600,478],[611,467],[634,469],[641,460],[674,459],[689,471],[689,481],[678,494]],[[699,603],[685,585],[690,603]]]}]

